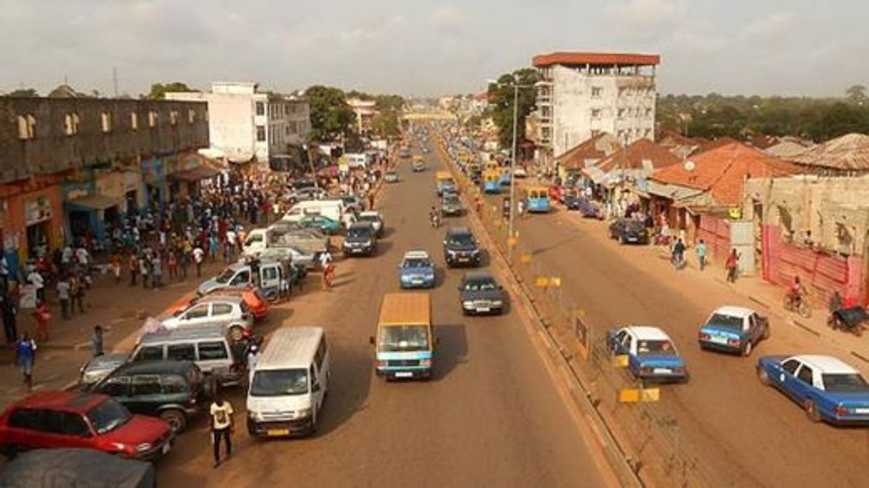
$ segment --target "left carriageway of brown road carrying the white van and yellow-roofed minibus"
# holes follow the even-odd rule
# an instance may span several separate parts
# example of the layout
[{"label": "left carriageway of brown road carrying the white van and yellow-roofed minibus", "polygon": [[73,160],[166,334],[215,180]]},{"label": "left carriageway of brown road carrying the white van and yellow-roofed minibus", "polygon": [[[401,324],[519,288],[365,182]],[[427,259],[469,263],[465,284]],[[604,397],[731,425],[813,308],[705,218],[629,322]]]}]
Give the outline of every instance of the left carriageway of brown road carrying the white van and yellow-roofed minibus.
[{"label": "left carriageway of brown road carrying the white van and yellow-roofed minibus", "polygon": [[[204,427],[182,436],[158,465],[161,486],[193,484],[600,486],[574,417],[516,313],[465,318],[456,287],[461,271],[443,267],[445,228],[428,227],[434,169],[412,174],[380,206],[387,234],[379,255],[338,263],[332,293],[308,293],[278,310],[282,326],[322,325],[333,346],[331,391],[313,439],[254,441],[236,430],[236,453],[212,469]],[[458,220],[457,220],[458,221]],[[452,222],[452,221],[448,221]],[[381,295],[396,291],[396,265],[409,248],[427,248],[439,265],[435,378],[385,383],[372,374]],[[269,328],[281,326],[271,320]],[[242,410],[243,398],[230,399]],[[243,425],[243,412],[237,420]]]}]

